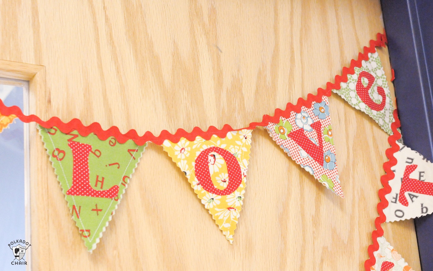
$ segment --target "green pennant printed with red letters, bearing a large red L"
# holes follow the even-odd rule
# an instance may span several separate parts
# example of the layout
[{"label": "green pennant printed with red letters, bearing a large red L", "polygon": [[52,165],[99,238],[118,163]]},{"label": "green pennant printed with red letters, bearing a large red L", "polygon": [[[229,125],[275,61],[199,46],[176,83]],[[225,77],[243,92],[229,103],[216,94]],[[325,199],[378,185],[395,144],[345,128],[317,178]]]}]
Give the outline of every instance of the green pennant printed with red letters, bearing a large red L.
[{"label": "green pennant printed with red letters, bearing a large red L", "polygon": [[145,145],[39,127],[69,210],[89,252],[96,248],[131,180]]}]

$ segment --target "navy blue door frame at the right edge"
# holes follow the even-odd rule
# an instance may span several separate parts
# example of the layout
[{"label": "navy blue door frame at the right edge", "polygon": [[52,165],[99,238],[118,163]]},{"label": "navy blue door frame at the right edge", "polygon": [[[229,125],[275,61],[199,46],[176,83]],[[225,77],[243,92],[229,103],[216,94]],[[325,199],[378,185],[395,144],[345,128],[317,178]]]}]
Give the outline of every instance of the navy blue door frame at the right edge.
[{"label": "navy blue door frame at the right edge", "polygon": [[[433,1],[381,4],[404,144],[433,161]],[[433,216],[415,219],[415,228],[421,267],[433,270]]]}]

